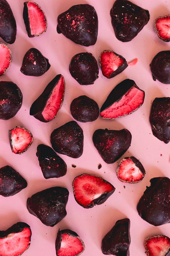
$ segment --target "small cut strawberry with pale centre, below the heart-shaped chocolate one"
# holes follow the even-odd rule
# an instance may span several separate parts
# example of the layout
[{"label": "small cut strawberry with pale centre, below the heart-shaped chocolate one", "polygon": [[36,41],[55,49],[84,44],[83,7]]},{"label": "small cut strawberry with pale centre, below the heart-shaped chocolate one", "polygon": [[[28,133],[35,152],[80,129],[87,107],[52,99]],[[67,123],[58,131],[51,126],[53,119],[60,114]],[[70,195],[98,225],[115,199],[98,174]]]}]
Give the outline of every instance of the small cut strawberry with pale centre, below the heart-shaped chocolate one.
[{"label": "small cut strawberry with pale centre, below the heart-shaped chocolate one", "polygon": [[117,168],[117,177],[122,182],[137,183],[145,176],[145,169],[134,156],[122,159]]}]

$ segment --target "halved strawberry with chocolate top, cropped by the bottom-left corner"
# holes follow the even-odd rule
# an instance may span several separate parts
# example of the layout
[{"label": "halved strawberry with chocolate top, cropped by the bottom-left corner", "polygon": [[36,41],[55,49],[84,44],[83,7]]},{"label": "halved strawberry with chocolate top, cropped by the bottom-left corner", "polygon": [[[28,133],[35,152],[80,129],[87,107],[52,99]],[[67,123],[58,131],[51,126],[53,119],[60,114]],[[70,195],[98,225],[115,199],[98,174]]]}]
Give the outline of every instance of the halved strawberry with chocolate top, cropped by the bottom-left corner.
[{"label": "halved strawberry with chocolate top, cropped by the bottom-left corner", "polygon": [[0,255],[21,255],[30,246],[31,235],[30,226],[24,222],[17,222],[7,230],[0,231]]}]

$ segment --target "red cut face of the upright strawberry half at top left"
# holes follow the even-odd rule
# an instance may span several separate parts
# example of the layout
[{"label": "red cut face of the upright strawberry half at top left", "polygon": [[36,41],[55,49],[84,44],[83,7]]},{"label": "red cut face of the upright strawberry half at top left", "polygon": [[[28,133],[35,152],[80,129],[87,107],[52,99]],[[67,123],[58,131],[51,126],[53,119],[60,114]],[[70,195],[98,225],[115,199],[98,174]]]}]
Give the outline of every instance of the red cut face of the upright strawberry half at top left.
[{"label": "red cut face of the upright strawberry half at top left", "polygon": [[28,2],[28,18],[32,36],[39,36],[46,31],[46,18],[44,12],[34,2]]}]

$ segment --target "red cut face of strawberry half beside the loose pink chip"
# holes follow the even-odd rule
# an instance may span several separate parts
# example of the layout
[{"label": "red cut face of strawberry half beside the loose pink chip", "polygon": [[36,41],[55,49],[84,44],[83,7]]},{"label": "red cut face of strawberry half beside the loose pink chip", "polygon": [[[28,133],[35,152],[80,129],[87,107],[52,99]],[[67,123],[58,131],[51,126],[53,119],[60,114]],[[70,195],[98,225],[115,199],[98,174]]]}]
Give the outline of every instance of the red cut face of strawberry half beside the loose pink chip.
[{"label": "red cut face of strawberry half beside the loose pink chip", "polygon": [[124,63],[124,60],[114,52],[108,51],[101,54],[100,63],[103,75],[109,78]]}]

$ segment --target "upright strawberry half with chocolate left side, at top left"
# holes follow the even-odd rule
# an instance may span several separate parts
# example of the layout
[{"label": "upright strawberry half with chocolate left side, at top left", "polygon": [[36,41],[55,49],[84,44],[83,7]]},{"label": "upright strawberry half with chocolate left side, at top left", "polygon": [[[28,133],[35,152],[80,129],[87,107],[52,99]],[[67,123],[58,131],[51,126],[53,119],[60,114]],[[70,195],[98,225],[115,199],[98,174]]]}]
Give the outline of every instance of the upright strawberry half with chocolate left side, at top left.
[{"label": "upright strawberry half with chocolate left side, at top left", "polygon": [[44,11],[35,2],[24,2],[23,19],[29,37],[40,36],[47,30]]}]

